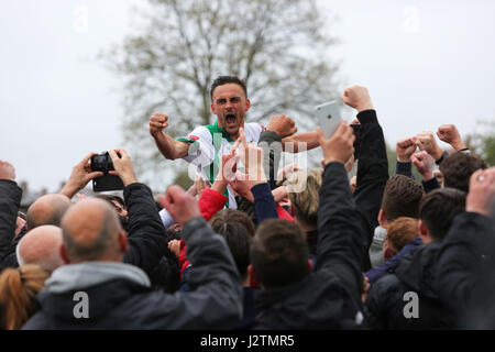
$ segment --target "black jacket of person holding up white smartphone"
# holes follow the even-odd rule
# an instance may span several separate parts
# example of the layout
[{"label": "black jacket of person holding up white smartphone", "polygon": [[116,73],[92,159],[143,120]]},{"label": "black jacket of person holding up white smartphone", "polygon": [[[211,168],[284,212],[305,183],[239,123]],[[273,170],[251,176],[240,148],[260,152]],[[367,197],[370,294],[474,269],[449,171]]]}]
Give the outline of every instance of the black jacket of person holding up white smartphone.
[{"label": "black jacket of person holding up white smartphone", "polygon": [[318,228],[316,271],[292,285],[262,289],[255,298],[256,329],[355,327],[363,282],[362,229],[341,163],[324,168]]}]

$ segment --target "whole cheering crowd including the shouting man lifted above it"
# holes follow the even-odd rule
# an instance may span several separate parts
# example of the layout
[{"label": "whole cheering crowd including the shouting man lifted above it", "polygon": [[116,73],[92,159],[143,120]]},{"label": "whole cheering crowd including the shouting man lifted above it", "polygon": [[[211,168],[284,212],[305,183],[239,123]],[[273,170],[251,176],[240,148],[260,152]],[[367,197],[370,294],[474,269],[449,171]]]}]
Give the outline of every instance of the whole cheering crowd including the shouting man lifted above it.
[{"label": "whole cheering crowd including the shouting man lifted above it", "polygon": [[[495,329],[495,167],[443,124],[398,141],[389,175],[367,89],[341,99],[359,133],[296,134],[287,116],[245,122],[244,81],[218,77],[215,124],[173,139],[167,114],[150,119],[196,173],[157,199],[117,148],[123,197],[76,197],[103,176],[90,153],[24,217],[0,161],[0,328]],[[279,167],[316,147],[321,167]]]}]

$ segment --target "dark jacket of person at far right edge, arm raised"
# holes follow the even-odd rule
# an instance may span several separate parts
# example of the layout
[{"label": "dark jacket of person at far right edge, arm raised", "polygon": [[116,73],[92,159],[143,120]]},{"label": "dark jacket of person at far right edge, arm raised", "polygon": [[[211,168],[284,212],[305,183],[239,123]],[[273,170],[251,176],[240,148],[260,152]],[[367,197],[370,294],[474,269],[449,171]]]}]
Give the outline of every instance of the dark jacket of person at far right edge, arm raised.
[{"label": "dark jacket of person at far right edge, arm raised", "polygon": [[455,328],[495,329],[495,218],[458,215],[439,254],[438,292]]}]

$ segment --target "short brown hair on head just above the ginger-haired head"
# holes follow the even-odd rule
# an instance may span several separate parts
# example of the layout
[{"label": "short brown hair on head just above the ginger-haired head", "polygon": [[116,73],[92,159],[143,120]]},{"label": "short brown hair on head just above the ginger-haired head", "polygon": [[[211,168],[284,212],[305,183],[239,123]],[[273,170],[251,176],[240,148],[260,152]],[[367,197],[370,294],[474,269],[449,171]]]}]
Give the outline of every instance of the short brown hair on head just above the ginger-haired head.
[{"label": "short brown hair on head just above the ginger-haired head", "polygon": [[382,209],[387,221],[399,217],[418,219],[422,186],[404,175],[392,176],[383,193]]}]

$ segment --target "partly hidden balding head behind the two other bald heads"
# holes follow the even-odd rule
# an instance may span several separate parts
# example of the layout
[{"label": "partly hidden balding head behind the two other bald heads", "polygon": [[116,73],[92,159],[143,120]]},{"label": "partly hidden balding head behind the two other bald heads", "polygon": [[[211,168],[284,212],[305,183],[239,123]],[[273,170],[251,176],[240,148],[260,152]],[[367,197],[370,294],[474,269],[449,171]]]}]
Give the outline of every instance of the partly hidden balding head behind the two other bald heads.
[{"label": "partly hidden balding head behind the two other bald heads", "polygon": [[40,197],[28,209],[28,228],[33,230],[43,224],[59,227],[64,213],[70,206],[70,200],[63,195],[53,194]]}]

